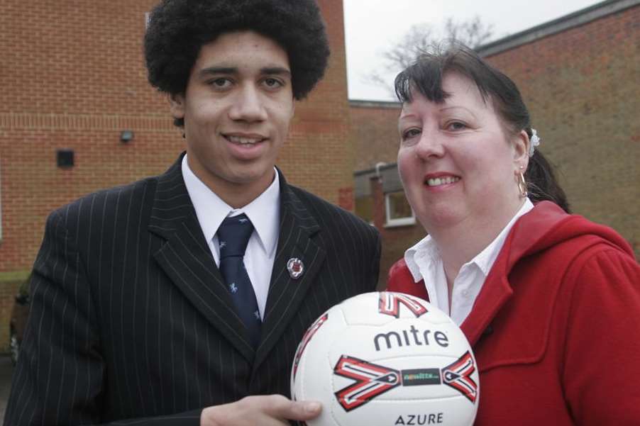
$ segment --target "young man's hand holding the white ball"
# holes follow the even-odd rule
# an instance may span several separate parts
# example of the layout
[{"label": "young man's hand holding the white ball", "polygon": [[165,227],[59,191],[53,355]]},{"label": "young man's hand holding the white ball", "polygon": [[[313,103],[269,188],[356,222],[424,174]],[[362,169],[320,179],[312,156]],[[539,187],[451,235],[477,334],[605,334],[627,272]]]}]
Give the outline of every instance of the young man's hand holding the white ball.
[{"label": "young man's hand holding the white ball", "polygon": [[309,420],[320,410],[320,403],[294,402],[282,395],[247,396],[235,403],[205,408],[200,426],[288,426],[287,420]]}]

